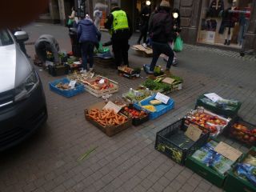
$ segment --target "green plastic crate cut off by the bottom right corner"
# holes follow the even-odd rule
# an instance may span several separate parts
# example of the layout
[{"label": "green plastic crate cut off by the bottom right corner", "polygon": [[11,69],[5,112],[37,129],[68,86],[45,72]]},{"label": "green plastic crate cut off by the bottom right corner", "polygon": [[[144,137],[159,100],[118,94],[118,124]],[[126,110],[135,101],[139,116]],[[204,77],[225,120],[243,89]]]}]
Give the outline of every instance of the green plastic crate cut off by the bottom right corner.
[{"label": "green plastic crate cut off by the bottom right corner", "polygon": [[[252,147],[247,154],[250,154],[252,152],[256,153],[256,147]],[[242,162],[246,158],[247,154],[244,155],[239,162]],[[226,192],[255,192],[256,186],[242,178],[238,178],[234,174],[234,170],[230,170],[227,174],[223,189]]]}]

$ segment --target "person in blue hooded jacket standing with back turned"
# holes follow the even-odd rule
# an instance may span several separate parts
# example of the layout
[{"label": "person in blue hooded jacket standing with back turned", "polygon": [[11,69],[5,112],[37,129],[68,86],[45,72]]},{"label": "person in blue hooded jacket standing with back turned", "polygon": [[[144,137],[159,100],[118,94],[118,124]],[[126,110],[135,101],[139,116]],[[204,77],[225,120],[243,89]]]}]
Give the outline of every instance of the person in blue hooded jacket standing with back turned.
[{"label": "person in blue hooded jacket standing with back turned", "polygon": [[90,19],[89,15],[86,15],[85,19],[78,22],[78,41],[81,43],[82,50],[82,66],[81,73],[86,73],[87,57],[90,61],[90,71],[94,67],[94,46],[98,45],[101,39],[101,33],[98,31],[94,22]]}]

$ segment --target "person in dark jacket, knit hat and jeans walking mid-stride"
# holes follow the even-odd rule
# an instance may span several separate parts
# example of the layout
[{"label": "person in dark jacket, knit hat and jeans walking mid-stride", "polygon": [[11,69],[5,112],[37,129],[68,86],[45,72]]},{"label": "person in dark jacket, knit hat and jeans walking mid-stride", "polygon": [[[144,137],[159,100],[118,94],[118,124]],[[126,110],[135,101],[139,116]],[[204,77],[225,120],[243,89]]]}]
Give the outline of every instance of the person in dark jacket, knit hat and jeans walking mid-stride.
[{"label": "person in dark jacket, knit hat and jeans walking mid-stride", "polygon": [[160,54],[166,54],[169,58],[166,64],[166,74],[170,74],[170,66],[174,60],[174,51],[169,42],[173,41],[173,21],[170,17],[170,3],[163,0],[158,13],[154,14],[150,23],[150,36],[152,39],[153,58],[148,74],[154,74],[154,66],[158,62]]}]

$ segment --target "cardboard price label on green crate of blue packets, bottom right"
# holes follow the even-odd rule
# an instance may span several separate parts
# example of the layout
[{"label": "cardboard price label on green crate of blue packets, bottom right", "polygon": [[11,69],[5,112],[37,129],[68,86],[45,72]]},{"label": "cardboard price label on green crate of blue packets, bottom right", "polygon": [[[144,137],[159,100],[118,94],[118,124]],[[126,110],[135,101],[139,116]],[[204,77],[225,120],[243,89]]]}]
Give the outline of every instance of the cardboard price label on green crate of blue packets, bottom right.
[{"label": "cardboard price label on green crate of blue packets, bottom right", "polygon": [[219,142],[218,145],[215,146],[214,150],[233,162],[242,155],[241,151],[234,149],[234,147],[227,145],[225,142]]}]

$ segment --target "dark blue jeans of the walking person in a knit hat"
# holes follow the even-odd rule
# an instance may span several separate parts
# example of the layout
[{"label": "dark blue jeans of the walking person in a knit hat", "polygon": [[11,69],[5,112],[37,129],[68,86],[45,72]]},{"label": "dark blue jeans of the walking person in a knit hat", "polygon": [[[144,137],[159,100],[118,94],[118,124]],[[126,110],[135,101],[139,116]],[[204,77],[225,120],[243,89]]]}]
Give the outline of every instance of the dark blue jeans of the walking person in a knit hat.
[{"label": "dark blue jeans of the walking person in a knit hat", "polygon": [[170,70],[170,66],[174,60],[174,51],[170,48],[168,43],[152,42],[153,58],[150,64],[150,71],[154,71],[154,66],[158,62],[160,54],[166,54],[169,59],[166,64],[166,70]]}]

